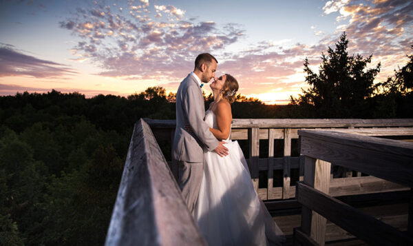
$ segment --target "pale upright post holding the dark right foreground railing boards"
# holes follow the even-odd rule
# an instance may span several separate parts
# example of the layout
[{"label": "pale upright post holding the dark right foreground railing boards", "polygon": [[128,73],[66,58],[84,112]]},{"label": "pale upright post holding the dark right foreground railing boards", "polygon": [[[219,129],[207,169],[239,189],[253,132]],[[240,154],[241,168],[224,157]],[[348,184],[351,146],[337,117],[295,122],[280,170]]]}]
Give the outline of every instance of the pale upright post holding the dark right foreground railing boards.
[{"label": "pale upright post holding the dark right foreground railing boards", "polygon": [[[304,183],[328,194],[330,187],[331,163],[306,156]],[[303,206],[301,229],[310,235],[319,245],[324,245],[326,238],[326,218]]]}]

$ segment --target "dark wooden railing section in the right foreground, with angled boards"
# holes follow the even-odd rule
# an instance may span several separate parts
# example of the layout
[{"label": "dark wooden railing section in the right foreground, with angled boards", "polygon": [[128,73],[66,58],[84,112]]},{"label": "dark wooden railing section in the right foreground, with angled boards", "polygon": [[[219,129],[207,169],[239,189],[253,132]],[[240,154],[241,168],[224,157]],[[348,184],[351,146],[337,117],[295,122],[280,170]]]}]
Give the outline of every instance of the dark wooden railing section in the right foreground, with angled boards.
[{"label": "dark wooden railing section in the right foreground, with angled boards", "polygon": [[[343,132],[301,130],[298,134],[305,171],[304,181],[297,183],[295,194],[302,205],[295,245],[324,245],[326,220],[370,245],[413,245],[413,143]],[[410,189],[407,232],[329,195],[330,163]]]}]

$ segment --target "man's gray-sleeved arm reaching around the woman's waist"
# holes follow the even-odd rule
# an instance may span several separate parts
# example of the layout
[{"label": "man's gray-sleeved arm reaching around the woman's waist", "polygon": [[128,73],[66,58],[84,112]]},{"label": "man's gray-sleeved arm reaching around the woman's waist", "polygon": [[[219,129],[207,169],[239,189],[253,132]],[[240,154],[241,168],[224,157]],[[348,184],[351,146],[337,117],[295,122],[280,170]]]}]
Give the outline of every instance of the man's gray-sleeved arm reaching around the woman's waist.
[{"label": "man's gray-sleeved arm reaching around the woman's waist", "polygon": [[199,102],[200,89],[195,85],[191,85],[187,88],[187,92],[184,95],[184,111],[188,116],[189,126],[192,128],[193,133],[198,136],[198,139],[207,147],[207,150],[213,151],[219,145],[219,141],[209,131],[207,123],[204,121],[204,115],[202,112],[202,105]]}]

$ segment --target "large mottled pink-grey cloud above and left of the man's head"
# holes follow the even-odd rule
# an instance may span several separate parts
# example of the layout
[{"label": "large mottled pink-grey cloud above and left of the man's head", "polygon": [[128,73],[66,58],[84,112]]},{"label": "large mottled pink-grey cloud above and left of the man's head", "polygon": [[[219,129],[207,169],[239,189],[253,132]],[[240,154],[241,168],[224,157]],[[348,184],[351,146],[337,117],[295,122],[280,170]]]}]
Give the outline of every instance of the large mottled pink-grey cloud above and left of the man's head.
[{"label": "large mottled pink-grey cloud above and left of the man's head", "polygon": [[148,79],[164,74],[175,81],[193,68],[196,55],[222,52],[244,35],[235,23],[183,20],[185,11],[175,6],[155,5],[151,14],[145,12],[149,1],[127,3],[129,12],[94,5],[59,23],[81,39],[72,54],[94,62],[103,70],[100,75]]}]

